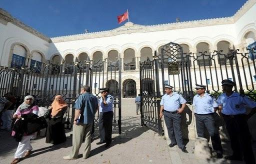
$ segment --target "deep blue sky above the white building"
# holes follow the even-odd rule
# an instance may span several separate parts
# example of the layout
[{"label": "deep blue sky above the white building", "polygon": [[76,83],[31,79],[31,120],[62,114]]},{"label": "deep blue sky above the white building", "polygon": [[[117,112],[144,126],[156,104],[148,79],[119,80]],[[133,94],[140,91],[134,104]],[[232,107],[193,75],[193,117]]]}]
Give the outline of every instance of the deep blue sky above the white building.
[{"label": "deep blue sky above the white building", "polygon": [[232,16],[246,0],[0,0],[0,8],[48,37],[110,30],[129,10],[135,24],[152,25]]}]

